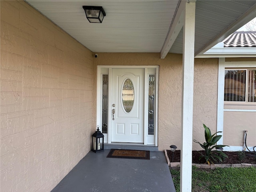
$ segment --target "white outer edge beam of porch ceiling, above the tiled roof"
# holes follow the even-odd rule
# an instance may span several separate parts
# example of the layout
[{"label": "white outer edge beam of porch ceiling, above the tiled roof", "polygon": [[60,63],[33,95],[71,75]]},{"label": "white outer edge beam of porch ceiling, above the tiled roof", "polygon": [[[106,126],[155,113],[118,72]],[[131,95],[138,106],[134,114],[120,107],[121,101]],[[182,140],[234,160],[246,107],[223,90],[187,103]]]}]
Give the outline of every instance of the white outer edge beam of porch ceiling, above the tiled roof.
[{"label": "white outer edge beam of porch ceiling, above the tiled roof", "polygon": [[213,40],[208,42],[204,47],[202,47],[198,52],[195,53],[195,56],[198,54],[203,54],[204,52],[208,51],[210,48],[215,46],[218,42],[221,42],[230,34],[238,30],[240,27],[244,26],[250,20],[255,18],[256,15],[256,4],[252,6],[246,13],[240,16],[235,22],[230,24],[226,29],[224,29],[219,35],[217,35]]}]

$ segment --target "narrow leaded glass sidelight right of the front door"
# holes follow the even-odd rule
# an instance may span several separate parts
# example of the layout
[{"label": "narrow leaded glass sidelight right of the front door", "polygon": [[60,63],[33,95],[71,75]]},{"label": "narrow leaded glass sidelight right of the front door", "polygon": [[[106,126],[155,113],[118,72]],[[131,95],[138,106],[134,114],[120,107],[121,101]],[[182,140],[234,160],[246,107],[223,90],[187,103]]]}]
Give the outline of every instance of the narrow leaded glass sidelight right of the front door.
[{"label": "narrow leaded glass sidelight right of the front door", "polygon": [[148,135],[154,135],[154,96],[155,96],[155,75],[148,76]]}]

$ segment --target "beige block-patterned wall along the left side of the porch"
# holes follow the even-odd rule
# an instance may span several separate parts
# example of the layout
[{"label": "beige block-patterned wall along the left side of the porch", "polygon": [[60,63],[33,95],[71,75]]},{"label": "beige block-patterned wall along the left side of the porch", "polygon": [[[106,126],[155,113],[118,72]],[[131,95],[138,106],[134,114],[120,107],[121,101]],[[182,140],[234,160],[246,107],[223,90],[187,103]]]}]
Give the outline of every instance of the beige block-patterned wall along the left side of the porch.
[{"label": "beige block-patterned wall along the left side of the porch", "polygon": [[0,188],[50,191],[90,150],[93,54],[24,1],[0,1]]}]

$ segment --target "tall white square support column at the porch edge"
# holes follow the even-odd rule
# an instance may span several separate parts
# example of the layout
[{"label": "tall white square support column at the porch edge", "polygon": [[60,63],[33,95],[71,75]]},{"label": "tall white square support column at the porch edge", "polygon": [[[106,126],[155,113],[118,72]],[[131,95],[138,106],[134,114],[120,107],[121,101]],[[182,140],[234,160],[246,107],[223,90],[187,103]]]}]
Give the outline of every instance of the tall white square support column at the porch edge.
[{"label": "tall white square support column at the porch edge", "polygon": [[183,26],[181,192],[190,192],[192,189],[195,10],[196,2],[188,1]]}]

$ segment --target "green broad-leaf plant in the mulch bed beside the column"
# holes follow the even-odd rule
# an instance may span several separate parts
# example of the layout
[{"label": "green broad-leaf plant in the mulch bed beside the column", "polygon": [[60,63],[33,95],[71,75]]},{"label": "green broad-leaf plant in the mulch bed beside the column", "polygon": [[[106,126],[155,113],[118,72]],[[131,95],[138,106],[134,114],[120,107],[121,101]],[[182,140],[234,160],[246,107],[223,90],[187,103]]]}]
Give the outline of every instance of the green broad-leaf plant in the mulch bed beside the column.
[{"label": "green broad-leaf plant in the mulch bed beside the column", "polygon": [[[213,152],[214,148],[227,146],[227,145],[216,145],[218,140],[220,140],[220,138],[222,137],[222,135],[216,135],[216,134],[221,133],[222,131],[218,131],[212,135],[211,130],[205,124],[203,124],[203,126],[204,126],[204,136],[205,136],[206,142],[201,144],[197,140],[194,140],[194,142],[200,144],[200,146],[205,151],[205,154],[202,154],[201,152],[199,152],[201,154],[201,156],[199,157],[199,160],[202,158],[205,158],[206,163],[208,163],[209,165],[211,163],[213,164],[214,161],[218,162],[218,160],[220,160],[220,162],[222,162],[222,158],[223,157],[228,158],[228,156],[222,151],[214,150],[214,152]],[[214,135],[216,135],[216,136],[214,136]],[[218,153],[218,155],[215,152]]]}]

